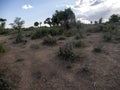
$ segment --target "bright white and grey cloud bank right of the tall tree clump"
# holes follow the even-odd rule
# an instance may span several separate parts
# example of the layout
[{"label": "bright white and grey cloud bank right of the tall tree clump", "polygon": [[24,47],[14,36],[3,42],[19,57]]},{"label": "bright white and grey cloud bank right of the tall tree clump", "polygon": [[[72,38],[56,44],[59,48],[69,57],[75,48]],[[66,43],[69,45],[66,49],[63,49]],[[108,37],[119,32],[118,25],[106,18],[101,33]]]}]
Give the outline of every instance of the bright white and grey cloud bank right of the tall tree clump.
[{"label": "bright white and grey cloud bank right of the tall tree clump", "polygon": [[107,20],[112,14],[120,14],[120,0],[77,0],[71,7],[81,21]]}]

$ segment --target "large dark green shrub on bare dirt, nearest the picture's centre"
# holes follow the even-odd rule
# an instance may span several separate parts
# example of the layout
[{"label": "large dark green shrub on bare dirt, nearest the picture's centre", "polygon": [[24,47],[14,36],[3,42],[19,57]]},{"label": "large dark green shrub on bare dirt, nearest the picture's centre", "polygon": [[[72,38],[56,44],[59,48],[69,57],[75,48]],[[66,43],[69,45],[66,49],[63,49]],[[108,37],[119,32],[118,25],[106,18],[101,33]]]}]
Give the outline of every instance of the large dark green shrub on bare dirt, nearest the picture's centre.
[{"label": "large dark green shrub on bare dirt, nearest the picture's centre", "polygon": [[73,51],[72,44],[68,43],[59,48],[58,56],[67,61],[74,61],[77,58],[77,55]]}]

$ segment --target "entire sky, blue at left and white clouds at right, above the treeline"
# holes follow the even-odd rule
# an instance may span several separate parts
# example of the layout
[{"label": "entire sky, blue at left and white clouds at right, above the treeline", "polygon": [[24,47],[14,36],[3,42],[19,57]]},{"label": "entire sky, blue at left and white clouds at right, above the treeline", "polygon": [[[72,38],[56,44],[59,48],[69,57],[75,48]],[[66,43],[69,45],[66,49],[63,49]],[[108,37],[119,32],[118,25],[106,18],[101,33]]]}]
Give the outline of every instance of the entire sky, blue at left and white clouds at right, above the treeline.
[{"label": "entire sky, blue at left and white clouds at right, above the treeline", "polygon": [[120,14],[120,0],[0,0],[0,17],[7,19],[7,27],[15,17],[25,20],[28,27],[51,17],[55,10],[68,7],[85,23],[101,17],[106,21],[110,15]]}]

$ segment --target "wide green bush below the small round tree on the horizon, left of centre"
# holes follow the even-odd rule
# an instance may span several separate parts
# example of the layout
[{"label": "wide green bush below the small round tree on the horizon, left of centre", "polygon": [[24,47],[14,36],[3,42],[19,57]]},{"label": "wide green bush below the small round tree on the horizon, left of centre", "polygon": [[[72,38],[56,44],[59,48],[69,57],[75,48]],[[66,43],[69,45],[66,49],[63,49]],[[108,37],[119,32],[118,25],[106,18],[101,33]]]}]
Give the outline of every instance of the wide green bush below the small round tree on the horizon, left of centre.
[{"label": "wide green bush below the small round tree on the horizon, left of centre", "polygon": [[48,28],[41,28],[33,32],[31,39],[42,38],[49,34]]}]

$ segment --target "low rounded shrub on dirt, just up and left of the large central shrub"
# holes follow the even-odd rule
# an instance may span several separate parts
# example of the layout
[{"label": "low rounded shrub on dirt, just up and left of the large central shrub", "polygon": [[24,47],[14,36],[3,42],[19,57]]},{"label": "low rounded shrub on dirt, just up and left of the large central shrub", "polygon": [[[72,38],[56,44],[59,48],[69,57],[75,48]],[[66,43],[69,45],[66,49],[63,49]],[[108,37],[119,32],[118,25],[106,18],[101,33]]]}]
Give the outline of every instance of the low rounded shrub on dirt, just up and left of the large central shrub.
[{"label": "low rounded shrub on dirt, just up and left of the large central shrub", "polygon": [[45,45],[55,45],[55,44],[57,44],[57,39],[55,37],[52,37],[52,36],[48,35],[44,38],[43,44],[45,44]]}]

